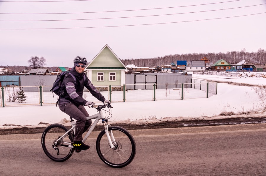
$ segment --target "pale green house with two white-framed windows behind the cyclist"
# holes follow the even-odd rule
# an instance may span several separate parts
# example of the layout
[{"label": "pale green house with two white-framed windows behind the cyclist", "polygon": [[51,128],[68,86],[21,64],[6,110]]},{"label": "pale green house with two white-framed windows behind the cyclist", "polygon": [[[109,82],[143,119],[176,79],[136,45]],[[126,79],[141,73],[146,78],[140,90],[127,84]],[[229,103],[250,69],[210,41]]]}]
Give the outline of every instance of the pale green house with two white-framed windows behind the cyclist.
[{"label": "pale green house with two white-framed windows behind the cyclist", "polygon": [[106,44],[86,66],[87,76],[95,86],[125,84],[126,66]]}]

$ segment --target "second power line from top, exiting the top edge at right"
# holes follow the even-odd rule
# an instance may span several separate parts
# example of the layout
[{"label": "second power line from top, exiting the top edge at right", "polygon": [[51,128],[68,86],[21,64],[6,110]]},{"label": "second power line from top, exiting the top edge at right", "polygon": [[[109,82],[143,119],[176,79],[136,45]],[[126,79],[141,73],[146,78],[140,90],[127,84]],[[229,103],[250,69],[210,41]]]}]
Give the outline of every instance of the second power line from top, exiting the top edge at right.
[{"label": "second power line from top, exiting the top edge at right", "polygon": [[[73,0],[74,1],[74,0]],[[234,1],[242,1],[242,0],[234,0]],[[191,6],[202,6],[202,5],[210,5],[210,4],[220,4],[234,1],[225,1],[225,2],[215,2],[209,4],[196,4],[196,5],[188,5],[188,6],[175,6],[175,7],[161,7],[161,8],[153,8],[153,9],[133,9],[133,10],[116,10],[116,11],[92,11],[92,12],[69,12],[69,13],[32,13],[32,14],[12,14],[12,13],[0,13],[0,14],[12,14],[12,15],[46,15],[46,14],[85,14],[85,13],[106,13],[106,12],[121,12],[121,11],[139,11],[139,10],[155,10],[155,9],[170,9],[170,8],[179,8],[179,7],[191,7]],[[2,2],[2,1],[0,1]],[[6,2],[6,1],[5,1]],[[43,1],[44,2],[44,1]],[[49,2],[49,1],[47,1]]]}]

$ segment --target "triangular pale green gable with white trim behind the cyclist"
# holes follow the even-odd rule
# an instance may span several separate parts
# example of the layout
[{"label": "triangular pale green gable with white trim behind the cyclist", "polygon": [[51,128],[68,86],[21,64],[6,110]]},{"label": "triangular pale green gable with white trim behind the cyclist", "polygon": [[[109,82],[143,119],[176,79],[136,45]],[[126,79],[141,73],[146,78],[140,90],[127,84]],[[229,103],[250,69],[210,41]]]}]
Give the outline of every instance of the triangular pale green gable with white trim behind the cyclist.
[{"label": "triangular pale green gable with white trim behind the cyclist", "polygon": [[116,56],[112,49],[106,44],[103,49],[87,65],[86,69],[122,69],[126,66]]}]

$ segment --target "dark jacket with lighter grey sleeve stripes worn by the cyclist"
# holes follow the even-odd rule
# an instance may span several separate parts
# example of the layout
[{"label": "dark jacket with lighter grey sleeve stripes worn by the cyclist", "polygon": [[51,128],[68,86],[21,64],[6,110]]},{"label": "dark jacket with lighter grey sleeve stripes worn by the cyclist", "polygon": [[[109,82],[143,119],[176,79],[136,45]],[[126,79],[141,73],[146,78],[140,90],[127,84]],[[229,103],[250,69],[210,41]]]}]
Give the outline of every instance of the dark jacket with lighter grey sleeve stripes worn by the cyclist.
[{"label": "dark jacket with lighter grey sleeve stripes worn by the cyclist", "polygon": [[[95,98],[97,98],[101,102],[104,102],[105,98],[93,86],[93,84],[88,79],[86,74],[84,73],[78,74],[74,67],[69,72],[72,73],[72,75],[76,78],[76,81],[74,80],[71,74],[69,73],[66,74],[61,84],[61,89],[64,91],[64,93],[61,95],[59,104],[71,102],[76,106],[79,105],[85,106],[87,100],[82,98],[84,87],[86,87]],[[84,75],[85,75],[85,81],[84,81]]]}]

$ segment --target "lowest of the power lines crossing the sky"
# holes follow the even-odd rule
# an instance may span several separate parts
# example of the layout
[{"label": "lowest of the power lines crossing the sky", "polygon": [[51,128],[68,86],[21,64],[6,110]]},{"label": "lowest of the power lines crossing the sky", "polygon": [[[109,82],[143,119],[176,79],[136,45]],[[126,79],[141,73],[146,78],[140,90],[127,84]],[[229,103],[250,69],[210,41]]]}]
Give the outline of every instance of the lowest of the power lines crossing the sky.
[{"label": "lowest of the power lines crossing the sky", "polygon": [[155,25],[155,24],[172,24],[172,23],[184,23],[184,22],[193,22],[193,21],[206,21],[206,20],[214,20],[214,19],[225,19],[225,18],[235,18],[241,16],[251,16],[258,14],[265,14],[266,12],[257,13],[257,14],[248,14],[248,15],[239,15],[239,16],[229,16],[222,18],[211,18],[211,19],[198,19],[198,20],[190,20],[190,21],[176,21],[176,22],[167,22],[167,23],[152,23],[152,24],[132,24],[132,25],[121,25],[121,26],[94,26],[94,27],[67,27],[67,28],[28,28],[28,29],[0,29],[0,30],[39,30],[39,29],[85,29],[85,28],[106,28],[106,27],[124,27],[124,26],[145,26],[145,25]]}]

